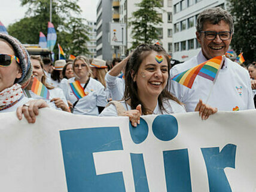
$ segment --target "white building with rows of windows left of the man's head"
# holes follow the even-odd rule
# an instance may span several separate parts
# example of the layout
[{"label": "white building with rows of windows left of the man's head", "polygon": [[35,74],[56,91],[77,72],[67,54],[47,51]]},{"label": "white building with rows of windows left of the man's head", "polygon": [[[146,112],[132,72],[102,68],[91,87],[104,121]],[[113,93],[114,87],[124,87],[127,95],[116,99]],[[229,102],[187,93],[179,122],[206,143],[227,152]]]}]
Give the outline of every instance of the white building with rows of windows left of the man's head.
[{"label": "white building with rows of windows left of the man's head", "polygon": [[225,4],[225,0],[173,0],[173,59],[186,61],[198,54],[197,16],[206,8],[225,8]]}]

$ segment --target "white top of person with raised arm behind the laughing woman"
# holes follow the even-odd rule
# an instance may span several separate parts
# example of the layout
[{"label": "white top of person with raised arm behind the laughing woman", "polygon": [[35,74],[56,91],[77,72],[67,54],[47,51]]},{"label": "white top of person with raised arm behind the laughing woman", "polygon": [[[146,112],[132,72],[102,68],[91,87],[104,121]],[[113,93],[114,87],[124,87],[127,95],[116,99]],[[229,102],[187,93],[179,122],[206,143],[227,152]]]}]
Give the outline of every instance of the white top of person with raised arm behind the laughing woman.
[{"label": "white top of person with raised arm behind the laughing woman", "polygon": [[105,76],[106,87],[111,93],[113,101],[119,101],[123,98],[124,95],[124,79],[118,78],[116,76],[111,76],[109,73],[106,73]]}]

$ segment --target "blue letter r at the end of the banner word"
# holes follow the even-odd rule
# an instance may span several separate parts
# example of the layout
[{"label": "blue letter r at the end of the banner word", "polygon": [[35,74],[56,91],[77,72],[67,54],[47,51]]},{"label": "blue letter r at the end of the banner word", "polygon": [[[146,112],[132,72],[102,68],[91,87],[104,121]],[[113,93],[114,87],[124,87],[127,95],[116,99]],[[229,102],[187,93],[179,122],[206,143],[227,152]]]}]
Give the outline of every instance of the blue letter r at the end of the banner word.
[{"label": "blue letter r at the end of the banner word", "polygon": [[220,147],[201,148],[208,173],[210,192],[232,191],[225,176],[225,168],[234,168],[236,160],[236,145],[227,144]]}]

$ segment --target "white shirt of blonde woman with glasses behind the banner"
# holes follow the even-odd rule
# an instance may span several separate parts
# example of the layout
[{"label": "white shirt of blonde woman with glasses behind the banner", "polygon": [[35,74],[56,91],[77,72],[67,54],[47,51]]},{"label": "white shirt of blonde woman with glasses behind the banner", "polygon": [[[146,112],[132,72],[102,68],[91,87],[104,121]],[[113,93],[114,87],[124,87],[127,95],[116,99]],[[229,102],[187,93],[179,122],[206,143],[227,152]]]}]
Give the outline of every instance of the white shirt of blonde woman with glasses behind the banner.
[{"label": "white shirt of blonde woman with glasses behind the banner", "polygon": [[[64,95],[67,100],[71,101],[72,104],[77,101],[77,97],[75,97],[74,93],[72,92],[71,86],[69,83],[75,81],[75,78],[71,79],[62,79],[61,86],[64,92]],[[81,84],[84,87],[84,84]],[[106,106],[106,92],[104,90],[104,86],[102,83],[98,82],[97,80],[90,78],[86,89],[84,92],[88,93],[83,98],[80,98],[78,103],[75,105],[74,114],[88,114],[88,115],[99,115],[99,111],[97,106],[105,107]]]}]

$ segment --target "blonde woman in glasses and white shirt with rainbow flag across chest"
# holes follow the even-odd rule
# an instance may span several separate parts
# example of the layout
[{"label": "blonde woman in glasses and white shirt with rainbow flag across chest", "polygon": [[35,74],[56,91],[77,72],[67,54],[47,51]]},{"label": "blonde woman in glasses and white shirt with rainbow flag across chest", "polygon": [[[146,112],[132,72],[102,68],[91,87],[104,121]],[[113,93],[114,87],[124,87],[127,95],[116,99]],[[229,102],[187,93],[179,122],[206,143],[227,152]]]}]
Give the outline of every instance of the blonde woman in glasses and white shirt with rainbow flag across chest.
[{"label": "blonde woman in glasses and white shirt with rainbow flag across chest", "polygon": [[[99,115],[106,105],[105,87],[91,78],[92,71],[88,58],[77,56],[73,63],[75,77],[62,79],[61,87],[66,99],[71,102],[74,114]],[[71,84],[79,81],[86,96],[78,99],[72,91]]]}]

